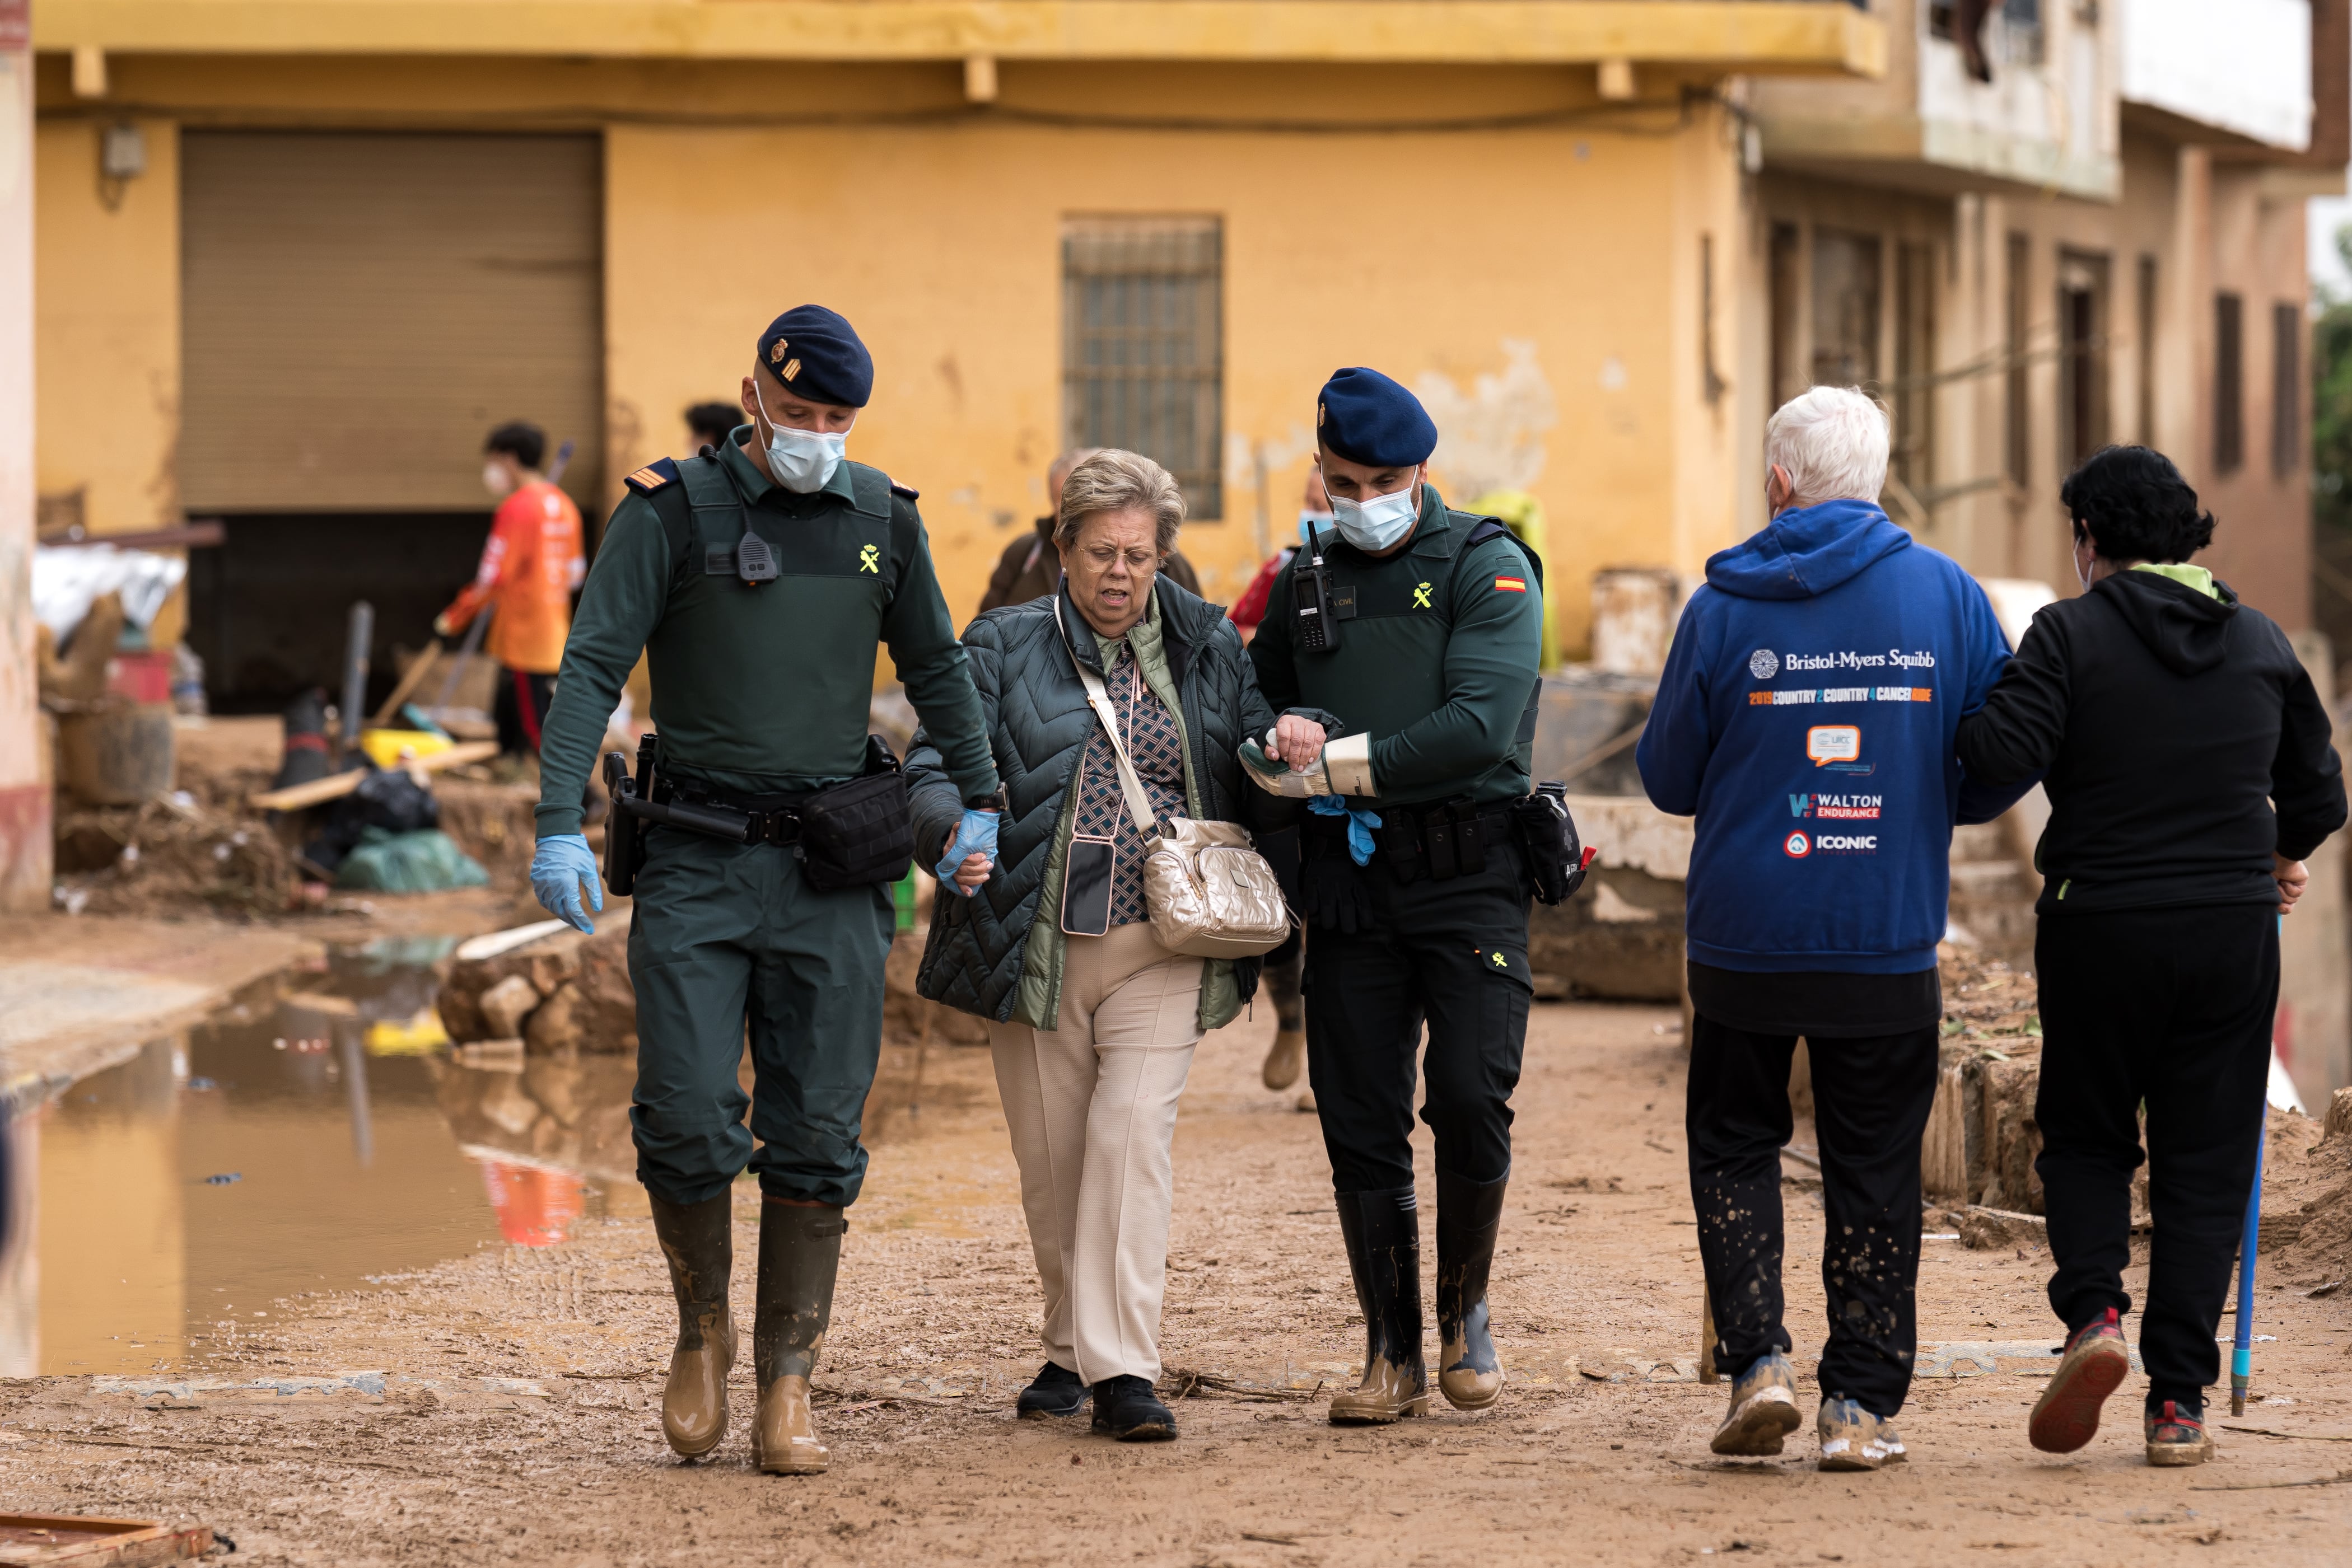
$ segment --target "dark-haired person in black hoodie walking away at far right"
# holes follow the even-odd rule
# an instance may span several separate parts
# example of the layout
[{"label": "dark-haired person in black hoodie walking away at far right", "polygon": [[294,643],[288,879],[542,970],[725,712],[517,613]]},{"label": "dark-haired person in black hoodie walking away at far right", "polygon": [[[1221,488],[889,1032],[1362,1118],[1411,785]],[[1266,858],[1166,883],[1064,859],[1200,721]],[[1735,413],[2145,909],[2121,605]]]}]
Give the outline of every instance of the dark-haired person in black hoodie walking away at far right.
[{"label": "dark-haired person in black hoodie walking away at far right", "polygon": [[2204,1389],[2253,1185],[2279,922],[2345,823],[2328,715],[2286,632],[2187,557],[2213,541],[2169,458],[2091,454],[2058,491],[2082,597],[2034,616],[1962,719],[1973,780],[2044,776],[2034,863],[2044,1208],[2065,1359],[2030,1439],[2072,1453],[2131,1366],[2131,1175],[2147,1107],[2147,1462],[2199,1465]]}]

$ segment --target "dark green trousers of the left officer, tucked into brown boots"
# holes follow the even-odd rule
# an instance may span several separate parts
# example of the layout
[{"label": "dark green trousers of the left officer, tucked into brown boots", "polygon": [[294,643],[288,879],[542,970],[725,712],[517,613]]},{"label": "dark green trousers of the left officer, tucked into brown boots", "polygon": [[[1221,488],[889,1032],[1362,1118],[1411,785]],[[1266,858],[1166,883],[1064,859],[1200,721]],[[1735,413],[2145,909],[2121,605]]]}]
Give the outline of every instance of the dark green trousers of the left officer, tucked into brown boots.
[{"label": "dark green trousers of the left officer, tucked into brown boots", "polygon": [[[628,926],[637,985],[628,1119],[647,1192],[703,1204],[748,1164],[769,1197],[858,1199],[858,1124],[882,1053],[894,924],[887,886],[821,893],[790,849],[647,832]],[[736,1079],[746,1023],[748,1128]]]}]

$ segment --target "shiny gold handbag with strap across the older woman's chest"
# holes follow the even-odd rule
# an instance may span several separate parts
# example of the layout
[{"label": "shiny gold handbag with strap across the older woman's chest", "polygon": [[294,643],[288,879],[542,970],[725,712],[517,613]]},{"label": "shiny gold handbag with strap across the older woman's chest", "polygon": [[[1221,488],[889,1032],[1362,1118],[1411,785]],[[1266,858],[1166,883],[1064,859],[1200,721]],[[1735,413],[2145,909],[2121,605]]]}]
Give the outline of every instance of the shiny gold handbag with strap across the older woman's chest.
[{"label": "shiny gold handbag with strap across the older woman's chest", "polygon": [[[1058,602],[1054,621],[1061,621]],[[1063,628],[1063,646],[1068,639],[1070,632]],[[1185,816],[1171,816],[1162,827],[1134,762],[1127,759],[1120,715],[1110,705],[1103,677],[1082,665],[1075,651],[1070,663],[1087,686],[1094,717],[1110,736],[1110,755],[1120,764],[1120,792],[1148,846],[1143,907],[1150,910],[1160,945],[1188,959],[1249,959],[1289,940],[1291,907],[1282,900],[1275,867],[1249,846],[1249,830],[1240,823],[1195,823]]]}]

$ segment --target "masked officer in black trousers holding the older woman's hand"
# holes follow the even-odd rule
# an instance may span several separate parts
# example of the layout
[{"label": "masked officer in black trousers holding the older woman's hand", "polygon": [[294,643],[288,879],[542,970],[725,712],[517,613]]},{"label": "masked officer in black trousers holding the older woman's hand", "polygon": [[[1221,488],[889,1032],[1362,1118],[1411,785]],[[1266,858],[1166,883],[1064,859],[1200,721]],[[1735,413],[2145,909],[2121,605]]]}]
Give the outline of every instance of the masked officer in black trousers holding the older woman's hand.
[{"label": "masked officer in black trousers holding the older woman's hand", "polygon": [[[1254,776],[1310,795],[1308,1074],[1367,1340],[1362,1385],[1331,1420],[1388,1422],[1428,1408],[1411,1152],[1423,1020],[1439,1389],[1463,1410],[1503,1392],[1486,1272],[1534,994],[1529,863],[1508,806],[1529,792],[1543,585],[1501,522],[1446,510],[1428,484],[1437,428],[1402,386],[1343,369],[1315,425],[1338,536],[1317,531],[1275,578],[1249,644],[1284,715],[1265,750],[1308,766],[1263,757]],[[1303,722],[1338,736],[1319,759],[1301,755]]]}]

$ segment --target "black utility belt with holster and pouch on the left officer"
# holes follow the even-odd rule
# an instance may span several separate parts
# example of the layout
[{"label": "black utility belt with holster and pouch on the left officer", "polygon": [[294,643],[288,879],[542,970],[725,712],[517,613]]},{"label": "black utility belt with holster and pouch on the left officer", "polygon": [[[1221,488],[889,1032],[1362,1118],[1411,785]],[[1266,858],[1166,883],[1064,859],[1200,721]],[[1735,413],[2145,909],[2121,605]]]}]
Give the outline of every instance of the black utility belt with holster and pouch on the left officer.
[{"label": "black utility belt with holster and pouch on the left officer", "polygon": [[866,771],[800,795],[746,795],[659,773],[659,741],[637,741],[637,776],[604,752],[604,884],[628,893],[644,865],[644,827],[677,827],[727,844],[769,844],[800,858],[809,886],[833,893],[898,882],[915,863],[906,773],[882,736],[866,736]]}]

